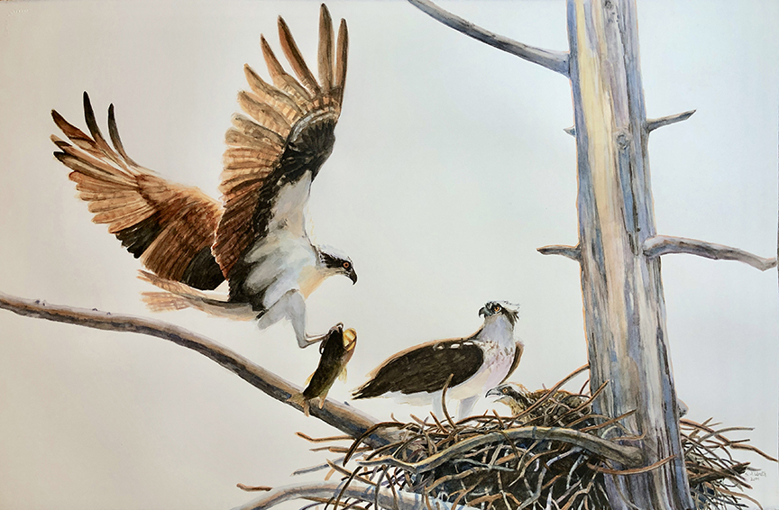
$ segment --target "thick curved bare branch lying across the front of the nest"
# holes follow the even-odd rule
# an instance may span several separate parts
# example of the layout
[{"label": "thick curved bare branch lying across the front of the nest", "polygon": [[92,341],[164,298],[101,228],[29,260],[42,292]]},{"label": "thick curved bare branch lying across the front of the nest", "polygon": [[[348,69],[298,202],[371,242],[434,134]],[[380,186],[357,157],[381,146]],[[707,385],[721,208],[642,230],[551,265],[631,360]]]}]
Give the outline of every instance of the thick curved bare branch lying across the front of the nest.
[{"label": "thick curved bare branch lying across the front of the nest", "polygon": [[487,433],[471,437],[418,462],[403,462],[394,457],[386,456],[378,459],[360,460],[359,463],[362,466],[389,465],[418,474],[435,469],[464,451],[471,451],[473,448],[493,442],[506,441],[507,437],[509,439],[568,442],[606,459],[616,460],[623,466],[635,467],[644,460],[640,448],[601,439],[593,434],[559,427],[518,427],[516,429],[506,429],[499,433]]}]

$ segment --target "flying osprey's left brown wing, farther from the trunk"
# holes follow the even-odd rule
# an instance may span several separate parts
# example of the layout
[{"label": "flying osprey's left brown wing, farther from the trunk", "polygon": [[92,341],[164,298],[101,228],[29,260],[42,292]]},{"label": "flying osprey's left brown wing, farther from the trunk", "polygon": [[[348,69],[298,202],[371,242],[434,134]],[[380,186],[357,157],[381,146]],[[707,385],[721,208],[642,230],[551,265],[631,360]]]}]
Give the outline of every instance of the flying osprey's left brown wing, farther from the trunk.
[{"label": "flying osprey's left brown wing, farther from the trunk", "polygon": [[89,203],[93,222],[106,223],[108,232],[161,278],[200,289],[224,281],[211,254],[221,215],[218,202],[197,187],[167,181],[130,159],[116,129],[114,105],[108,109],[114,148],[97,127],[86,92],[84,116],[91,137],[56,111],[51,116],[69,139],[51,136],[60,149],[54,156],[73,170],[70,180]]}]

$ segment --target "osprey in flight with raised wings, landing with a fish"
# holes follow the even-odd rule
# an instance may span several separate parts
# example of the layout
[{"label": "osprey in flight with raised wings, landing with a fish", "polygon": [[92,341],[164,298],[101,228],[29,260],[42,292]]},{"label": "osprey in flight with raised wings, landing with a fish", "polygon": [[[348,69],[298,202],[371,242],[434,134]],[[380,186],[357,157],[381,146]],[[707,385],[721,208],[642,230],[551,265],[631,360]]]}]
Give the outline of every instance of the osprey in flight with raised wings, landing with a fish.
[{"label": "osprey in flight with raised wings, landing with a fish", "polygon": [[[348,35],[341,20],[334,55],[330,14],[319,19],[318,77],[312,74],[279,18],[281,49],[292,77],[261,38],[273,85],[244,67],[251,91],[238,95],[244,114],[235,114],[219,190],[222,200],[197,187],[183,187],[143,168],[124,151],[108,108],[113,147],[97,127],[84,93],[91,134],[56,111],[54,122],[69,141],[52,136],[54,155],[73,171],[70,179],[94,213],[93,222],[140,258],[143,278],[165,292],[146,296],[152,309],[195,307],[212,314],[259,320],[261,328],[289,318],[300,347],[324,338],[306,332],[305,299],[325,278],[357,281],[352,260],[308,238],[304,208],[311,182],[333,150],[341,114]],[[224,280],[228,296],[214,296]]]}]

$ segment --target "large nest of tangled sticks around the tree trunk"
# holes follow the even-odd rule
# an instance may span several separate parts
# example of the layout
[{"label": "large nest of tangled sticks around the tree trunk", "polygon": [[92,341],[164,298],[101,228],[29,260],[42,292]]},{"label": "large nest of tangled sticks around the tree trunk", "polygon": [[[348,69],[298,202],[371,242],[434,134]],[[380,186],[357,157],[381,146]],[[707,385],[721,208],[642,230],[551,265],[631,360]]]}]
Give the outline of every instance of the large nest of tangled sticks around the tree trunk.
[{"label": "large nest of tangled sticks around the tree trunk", "polygon": [[[343,487],[356,479],[373,487],[389,488],[393,495],[400,491],[421,494],[429,510],[439,508],[436,498],[452,508],[464,505],[481,510],[609,509],[606,475],[656,469],[671,458],[646,468],[613,469],[609,459],[616,457],[605,438],[629,443],[641,437],[619,423],[632,413],[612,418],[593,412],[592,403],[605,385],[591,395],[584,393],[583,387],[578,393],[560,389],[582,371],[573,372],[551,389],[527,392],[525,409],[514,416],[493,411],[454,423],[444,407],[443,419],[434,414],[425,420],[412,415],[414,421],[410,423],[379,423],[363,438],[378,428],[387,428],[399,431],[398,440],[376,449],[362,445],[362,438],[351,448],[321,448],[345,454],[328,460],[331,469],[327,478],[337,473],[345,480]],[[682,420],[682,446],[696,508],[740,508],[746,506],[745,499],[759,506],[744,494],[751,488],[744,477],[750,470],[749,463],[734,459],[733,451],[749,450],[774,459],[745,444],[748,440],[731,441],[723,435],[749,429],[716,429],[709,422]],[[559,436],[549,433],[552,428],[562,429],[571,437],[559,441]],[[518,429],[525,432],[518,434]],[[536,433],[529,433],[531,430]],[[576,438],[583,439],[577,442]],[[625,448],[613,444],[615,449]],[[341,496],[319,503],[358,510],[378,507],[378,500]]]}]

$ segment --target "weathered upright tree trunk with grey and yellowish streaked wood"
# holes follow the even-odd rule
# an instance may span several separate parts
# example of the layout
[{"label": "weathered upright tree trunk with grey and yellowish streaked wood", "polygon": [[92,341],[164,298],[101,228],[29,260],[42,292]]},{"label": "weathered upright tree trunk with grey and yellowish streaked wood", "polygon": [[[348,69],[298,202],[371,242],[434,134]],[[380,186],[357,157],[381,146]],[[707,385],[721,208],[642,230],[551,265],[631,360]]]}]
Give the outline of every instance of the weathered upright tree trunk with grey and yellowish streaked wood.
[{"label": "weathered upright tree trunk with grey and yellowish streaked wood", "polygon": [[[570,78],[579,176],[579,248],[596,412],[626,418],[658,469],[611,476],[615,510],[692,508],[668,358],[655,235],[635,0],[568,0]],[[681,119],[680,119],[681,120]]]}]

